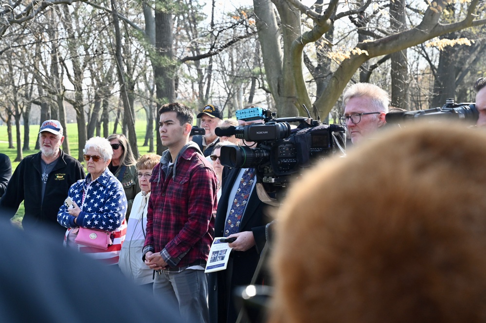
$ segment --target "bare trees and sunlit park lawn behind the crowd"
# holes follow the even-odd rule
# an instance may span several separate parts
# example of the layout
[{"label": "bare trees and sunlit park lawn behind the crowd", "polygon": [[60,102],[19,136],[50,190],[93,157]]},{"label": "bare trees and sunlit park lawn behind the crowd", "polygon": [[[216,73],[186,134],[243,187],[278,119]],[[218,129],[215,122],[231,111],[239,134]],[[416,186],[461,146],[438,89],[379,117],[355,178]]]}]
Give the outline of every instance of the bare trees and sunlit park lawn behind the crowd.
[{"label": "bare trees and sunlit park lawn behind the crowd", "polygon": [[385,89],[393,106],[429,109],[472,102],[486,70],[482,0],[10,2],[0,6],[0,152],[14,167],[37,152],[46,119],[61,122],[62,149],[80,161],[88,138],[111,133],[138,157],[162,153],[167,102],[329,122],[357,82]]}]

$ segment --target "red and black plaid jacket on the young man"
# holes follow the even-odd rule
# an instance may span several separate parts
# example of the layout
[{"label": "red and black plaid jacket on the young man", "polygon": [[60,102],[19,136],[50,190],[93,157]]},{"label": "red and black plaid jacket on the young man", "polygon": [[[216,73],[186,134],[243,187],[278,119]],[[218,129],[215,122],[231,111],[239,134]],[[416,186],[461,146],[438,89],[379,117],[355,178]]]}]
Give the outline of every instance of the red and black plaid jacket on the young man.
[{"label": "red and black plaid jacket on the young man", "polygon": [[181,153],[175,167],[175,176],[172,166],[167,171],[162,164],[152,172],[143,254],[161,252],[177,271],[206,263],[214,238],[217,198],[216,173],[195,149]]}]

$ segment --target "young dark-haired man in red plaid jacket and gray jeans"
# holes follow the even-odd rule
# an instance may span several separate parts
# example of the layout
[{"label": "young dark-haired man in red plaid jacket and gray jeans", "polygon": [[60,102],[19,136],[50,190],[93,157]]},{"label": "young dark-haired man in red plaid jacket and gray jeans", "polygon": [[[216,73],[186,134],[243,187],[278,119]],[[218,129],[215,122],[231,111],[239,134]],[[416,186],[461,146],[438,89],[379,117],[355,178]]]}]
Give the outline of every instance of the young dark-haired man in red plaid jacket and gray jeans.
[{"label": "young dark-haired man in red plaid jacket and gray jeans", "polygon": [[186,322],[207,323],[204,267],[214,238],[216,174],[189,141],[192,111],[176,102],[164,104],[159,113],[159,133],[168,150],[150,178],[143,259],[157,271],[154,295],[178,306]]}]

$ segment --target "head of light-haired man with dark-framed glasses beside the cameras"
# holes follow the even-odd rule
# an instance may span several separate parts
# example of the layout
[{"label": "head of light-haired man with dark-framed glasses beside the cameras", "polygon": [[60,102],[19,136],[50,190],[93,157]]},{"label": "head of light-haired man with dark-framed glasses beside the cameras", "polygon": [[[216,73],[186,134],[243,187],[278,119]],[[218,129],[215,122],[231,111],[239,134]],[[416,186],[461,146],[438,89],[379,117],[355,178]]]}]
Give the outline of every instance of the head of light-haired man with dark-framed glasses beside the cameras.
[{"label": "head of light-haired man with dark-framed glasses beside the cameras", "polygon": [[377,85],[357,83],[342,96],[344,115],[341,124],[347,127],[351,142],[356,144],[385,125],[390,99]]}]

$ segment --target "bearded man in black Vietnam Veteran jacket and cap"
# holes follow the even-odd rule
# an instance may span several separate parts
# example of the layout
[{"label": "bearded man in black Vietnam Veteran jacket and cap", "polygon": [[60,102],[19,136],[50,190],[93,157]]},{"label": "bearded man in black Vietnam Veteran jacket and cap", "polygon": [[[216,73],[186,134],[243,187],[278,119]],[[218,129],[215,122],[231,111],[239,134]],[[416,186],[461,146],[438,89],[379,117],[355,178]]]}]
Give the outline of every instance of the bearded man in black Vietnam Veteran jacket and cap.
[{"label": "bearded man in black Vietnam Veteran jacket and cap", "polygon": [[[66,228],[57,212],[73,183],[85,178],[83,166],[61,149],[64,141],[59,121],[46,120],[39,131],[40,152],[22,159],[0,200],[0,217],[11,219],[24,202],[24,230],[50,228],[62,243]],[[54,236],[54,238],[56,238]]]}]

